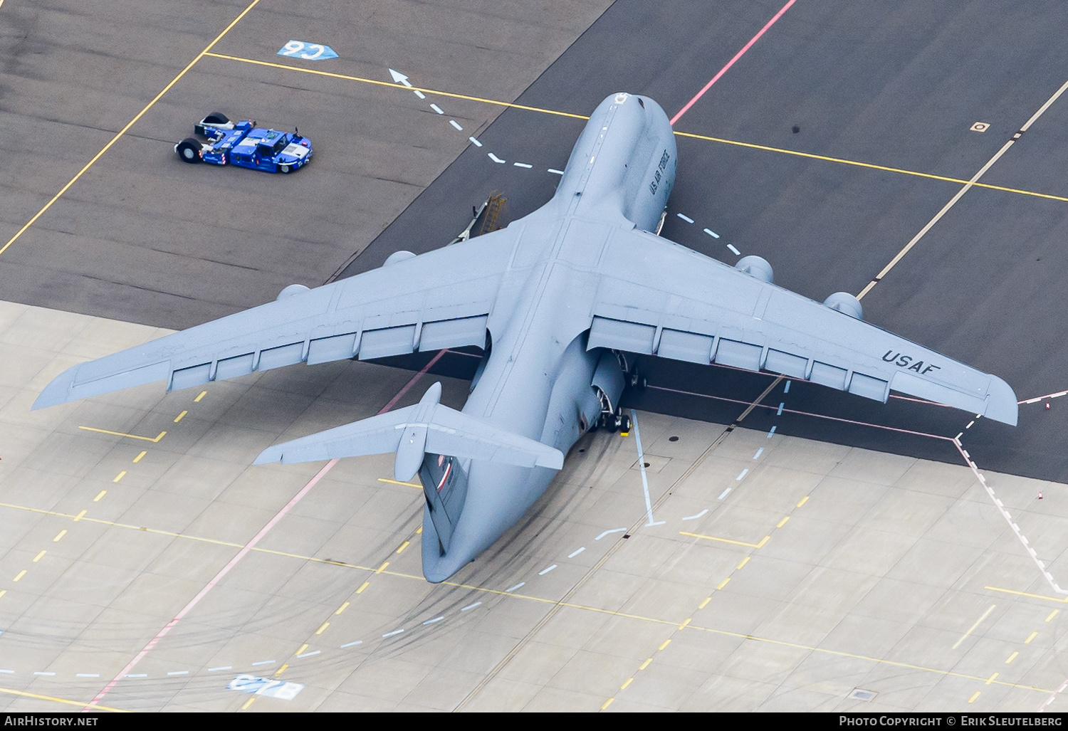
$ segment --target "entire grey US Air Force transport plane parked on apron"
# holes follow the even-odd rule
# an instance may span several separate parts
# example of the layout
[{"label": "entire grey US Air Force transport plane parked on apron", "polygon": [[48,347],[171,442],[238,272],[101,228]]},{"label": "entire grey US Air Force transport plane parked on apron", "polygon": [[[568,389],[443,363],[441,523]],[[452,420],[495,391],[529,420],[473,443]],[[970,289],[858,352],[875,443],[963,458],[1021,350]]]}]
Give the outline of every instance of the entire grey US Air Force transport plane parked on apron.
[{"label": "entire grey US Air Force transport plane parked on apron", "polygon": [[[735,267],[660,238],[675,180],[671,124],[646,96],[613,94],[582,130],[545,206],[504,229],[69,368],[34,409],[166,380],[187,388],[305,362],[478,346],[462,411],[418,404],[268,449],[256,464],[396,452],[418,473],[423,573],[441,582],[534,504],[579,436],[626,427],[622,353],[766,370],[886,401],[891,391],[1015,425],[1017,399],[980,372],[772,284],[758,256]],[[614,429],[613,429],[614,430]]]}]

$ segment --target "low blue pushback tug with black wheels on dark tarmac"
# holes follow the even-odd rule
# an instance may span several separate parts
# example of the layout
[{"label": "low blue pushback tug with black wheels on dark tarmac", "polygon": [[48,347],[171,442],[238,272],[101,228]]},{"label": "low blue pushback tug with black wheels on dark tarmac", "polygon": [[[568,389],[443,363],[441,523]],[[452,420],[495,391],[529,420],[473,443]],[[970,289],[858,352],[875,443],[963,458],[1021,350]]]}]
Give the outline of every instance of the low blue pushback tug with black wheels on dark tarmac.
[{"label": "low blue pushback tug with black wheels on dark tarmac", "polygon": [[234,164],[268,173],[290,173],[312,159],[312,143],[297,132],[262,129],[255,122],[231,122],[222,112],[211,112],[193,125],[207,139],[188,137],[174,145],[184,162],[203,160],[217,165]]}]

